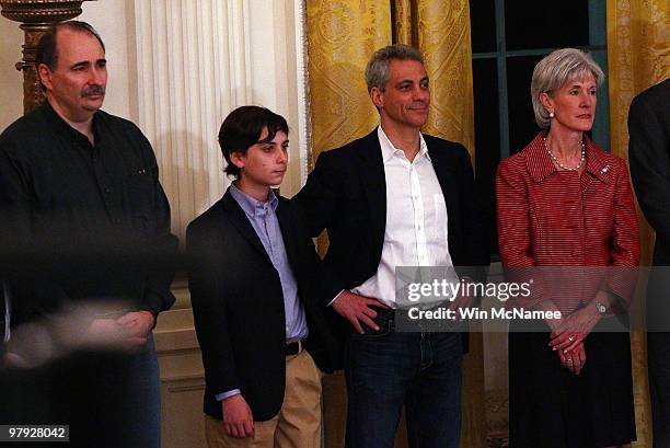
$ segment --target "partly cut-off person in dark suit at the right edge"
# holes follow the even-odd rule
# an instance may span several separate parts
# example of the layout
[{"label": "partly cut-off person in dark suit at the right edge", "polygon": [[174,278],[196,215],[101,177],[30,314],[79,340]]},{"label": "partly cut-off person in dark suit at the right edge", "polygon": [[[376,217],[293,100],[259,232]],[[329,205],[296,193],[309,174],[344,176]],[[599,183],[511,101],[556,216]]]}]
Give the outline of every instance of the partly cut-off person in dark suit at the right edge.
[{"label": "partly cut-off person in dark suit at the right edge", "polygon": [[637,202],[656,231],[647,287],[647,357],[654,447],[670,447],[670,79],[645,90],[628,112],[628,158]]}]

